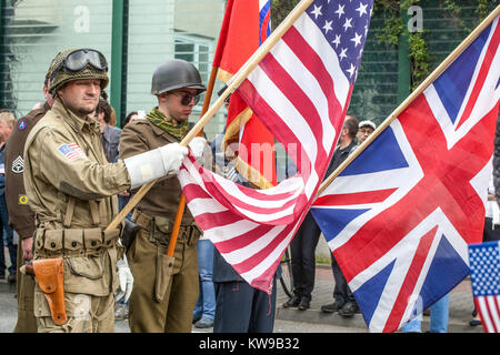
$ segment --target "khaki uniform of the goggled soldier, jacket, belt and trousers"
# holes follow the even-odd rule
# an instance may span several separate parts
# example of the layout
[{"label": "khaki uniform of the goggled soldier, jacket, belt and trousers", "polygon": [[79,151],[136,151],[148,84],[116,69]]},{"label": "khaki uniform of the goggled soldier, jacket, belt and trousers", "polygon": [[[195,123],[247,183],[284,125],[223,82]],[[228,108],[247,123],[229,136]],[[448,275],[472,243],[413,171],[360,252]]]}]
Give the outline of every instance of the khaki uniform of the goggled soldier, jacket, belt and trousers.
[{"label": "khaki uniform of the goggled soldier, jacket, belt and trousers", "polygon": [[39,332],[113,332],[119,280],[118,230],[103,232],[118,214],[117,193],[130,187],[122,161],[108,163],[98,123],[56,101],[24,148],[24,187],[36,213],[34,260],[63,257],[68,322],[52,322],[38,283]]}]

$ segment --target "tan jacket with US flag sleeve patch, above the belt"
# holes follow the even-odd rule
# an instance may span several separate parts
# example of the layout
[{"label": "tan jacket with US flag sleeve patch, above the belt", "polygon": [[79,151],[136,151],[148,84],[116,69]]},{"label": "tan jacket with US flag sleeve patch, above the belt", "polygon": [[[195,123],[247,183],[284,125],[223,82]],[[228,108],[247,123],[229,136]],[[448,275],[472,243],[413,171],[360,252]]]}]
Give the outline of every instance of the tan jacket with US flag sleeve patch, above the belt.
[{"label": "tan jacket with US flag sleeve patch, above the belt", "polygon": [[56,101],[28,135],[24,186],[38,226],[61,229],[74,196],[71,227],[96,226],[89,200],[98,200],[99,226],[106,227],[113,219],[112,195],[130,187],[130,178],[122,161],[107,162],[98,122],[79,119]]}]

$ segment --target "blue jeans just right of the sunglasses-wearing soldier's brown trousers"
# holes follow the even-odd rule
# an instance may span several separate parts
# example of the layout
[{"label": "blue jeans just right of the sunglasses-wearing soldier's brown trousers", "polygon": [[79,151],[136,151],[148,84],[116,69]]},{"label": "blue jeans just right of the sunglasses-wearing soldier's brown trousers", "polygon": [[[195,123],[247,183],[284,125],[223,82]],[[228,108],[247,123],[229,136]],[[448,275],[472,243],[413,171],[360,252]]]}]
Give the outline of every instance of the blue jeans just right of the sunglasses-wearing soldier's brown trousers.
[{"label": "blue jeans just right of the sunglasses-wearing soldier's brown trousers", "polygon": [[216,288],[212,282],[213,244],[209,240],[199,240],[198,271],[200,273],[200,296],[192,313],[193,320],[216,316]]}]

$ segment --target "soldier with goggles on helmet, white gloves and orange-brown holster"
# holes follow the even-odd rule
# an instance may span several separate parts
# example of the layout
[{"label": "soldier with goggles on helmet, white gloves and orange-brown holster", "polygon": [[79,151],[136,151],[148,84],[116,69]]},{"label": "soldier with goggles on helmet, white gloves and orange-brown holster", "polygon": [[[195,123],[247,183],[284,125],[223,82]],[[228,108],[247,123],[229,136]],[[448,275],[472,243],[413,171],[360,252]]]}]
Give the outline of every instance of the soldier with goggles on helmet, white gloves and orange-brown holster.
[{"label": "soldier with goggles on helmet, white gloves and orange-brown holster", "polygon": [[174,143],[107,162],[99,123],[90,116],[109,83],[107,71],[99,51],[60,52],[50,77],[54,103],[27,138],[38,332],[114,331],[114,291],[128,268],[118,266],[120,231],[106,230],[118,214],[116,194],[176,174],[188,153]]}]

